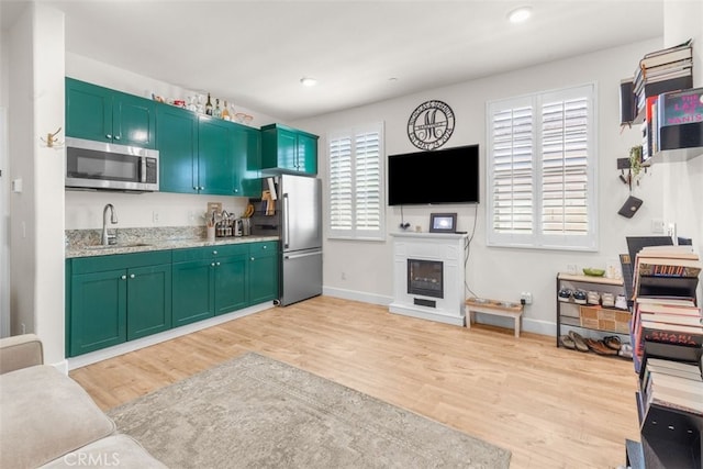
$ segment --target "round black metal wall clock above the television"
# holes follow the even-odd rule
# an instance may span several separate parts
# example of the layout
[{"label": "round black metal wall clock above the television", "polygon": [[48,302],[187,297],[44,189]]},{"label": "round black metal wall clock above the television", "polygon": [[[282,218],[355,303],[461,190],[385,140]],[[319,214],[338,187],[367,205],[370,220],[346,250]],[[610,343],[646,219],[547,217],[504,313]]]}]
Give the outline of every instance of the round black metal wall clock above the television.
[{"label": "round black metal wall clock above the television", "polygon": [[420,149],[435,149],[454,132],[454,111],[443,101],[420,104],[408,120],[408,138]]}]

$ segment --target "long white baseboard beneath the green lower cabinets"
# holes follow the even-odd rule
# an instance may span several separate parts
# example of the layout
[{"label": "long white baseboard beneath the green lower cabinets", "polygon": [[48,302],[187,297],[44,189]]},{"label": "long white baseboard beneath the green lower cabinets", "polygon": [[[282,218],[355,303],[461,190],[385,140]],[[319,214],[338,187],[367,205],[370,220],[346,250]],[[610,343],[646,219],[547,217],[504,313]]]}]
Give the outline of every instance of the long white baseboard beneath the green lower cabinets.
[{"label": "long white baseboard beneath the green lower cabinets", "polygon": [[108,358],[116,357],[129,351],[138,350],[140,348],[148,347],[161,342],[170,340],[171,338],[180,337],[181,335],[190,334],[197,331],[201,331],[208,327],[212,327],[217,324],[226,323],[227,321],[243,317],[249,314],[258,313],[259,311],[267,310],[274,306],[272,302],[260,303],[254,306],[245,308],[244,310],[233,311],[232,313],[222,314],[220,316],[210,317],[208,320],[199,321],[197,323],[187,324],[172,330],[164,331],[159,334],[149,335],[147,337],[137,338],[136,340],[125,342],[124,344],[115,345],[113,347],[104,348],[102,350],[91,351],[89,354],[80,355],[78,357],[71,357],[67,360],[68,370],[85,367],[98,361],[107,360]]}]

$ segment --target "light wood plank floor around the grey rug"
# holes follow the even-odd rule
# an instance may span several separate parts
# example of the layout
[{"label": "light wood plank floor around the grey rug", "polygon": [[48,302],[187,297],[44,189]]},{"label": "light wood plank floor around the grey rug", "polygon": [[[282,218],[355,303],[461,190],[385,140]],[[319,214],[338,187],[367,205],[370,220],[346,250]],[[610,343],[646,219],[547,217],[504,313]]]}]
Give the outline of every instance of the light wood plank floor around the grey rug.
[{"label": "light wood plank floor around the grey rug", "polygon": [[554,337],[319,297],[71,371],[103,409],[256,351],[512,451],[511,468],[613,468],[639,440],[632,362]]}]

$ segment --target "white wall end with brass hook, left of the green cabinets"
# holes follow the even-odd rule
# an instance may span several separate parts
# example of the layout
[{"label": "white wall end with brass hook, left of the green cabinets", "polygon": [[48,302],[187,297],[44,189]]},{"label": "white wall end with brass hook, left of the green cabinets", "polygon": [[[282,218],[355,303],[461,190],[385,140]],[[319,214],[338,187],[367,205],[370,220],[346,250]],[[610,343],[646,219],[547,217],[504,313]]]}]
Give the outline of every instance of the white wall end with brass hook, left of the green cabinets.
[{"label": "white wall end with brass hook, left of the green cabinets", "polygon": [[[64,127],[64,13],[27,3],[8,32],[12,333],[38,334],[64,360],[64,150],[41,137]],[[62,134],[63,135],[63,134]],[[40,202],[41,201],[41,202]]]}]

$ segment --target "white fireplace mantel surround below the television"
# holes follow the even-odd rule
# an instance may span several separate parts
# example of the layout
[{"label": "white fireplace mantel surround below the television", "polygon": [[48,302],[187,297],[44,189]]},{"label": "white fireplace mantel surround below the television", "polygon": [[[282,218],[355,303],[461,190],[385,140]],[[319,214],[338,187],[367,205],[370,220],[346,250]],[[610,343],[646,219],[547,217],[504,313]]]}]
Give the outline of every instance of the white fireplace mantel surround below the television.
[{"label": "white fireplace mantel surround below the television", "polygon": [[[393,302],[391,313],[462,326],[464,279],[467,234],[391,233],[393,237]],[[408,288],[408,259],[443,263],[443,298],[411,294]]]}]

